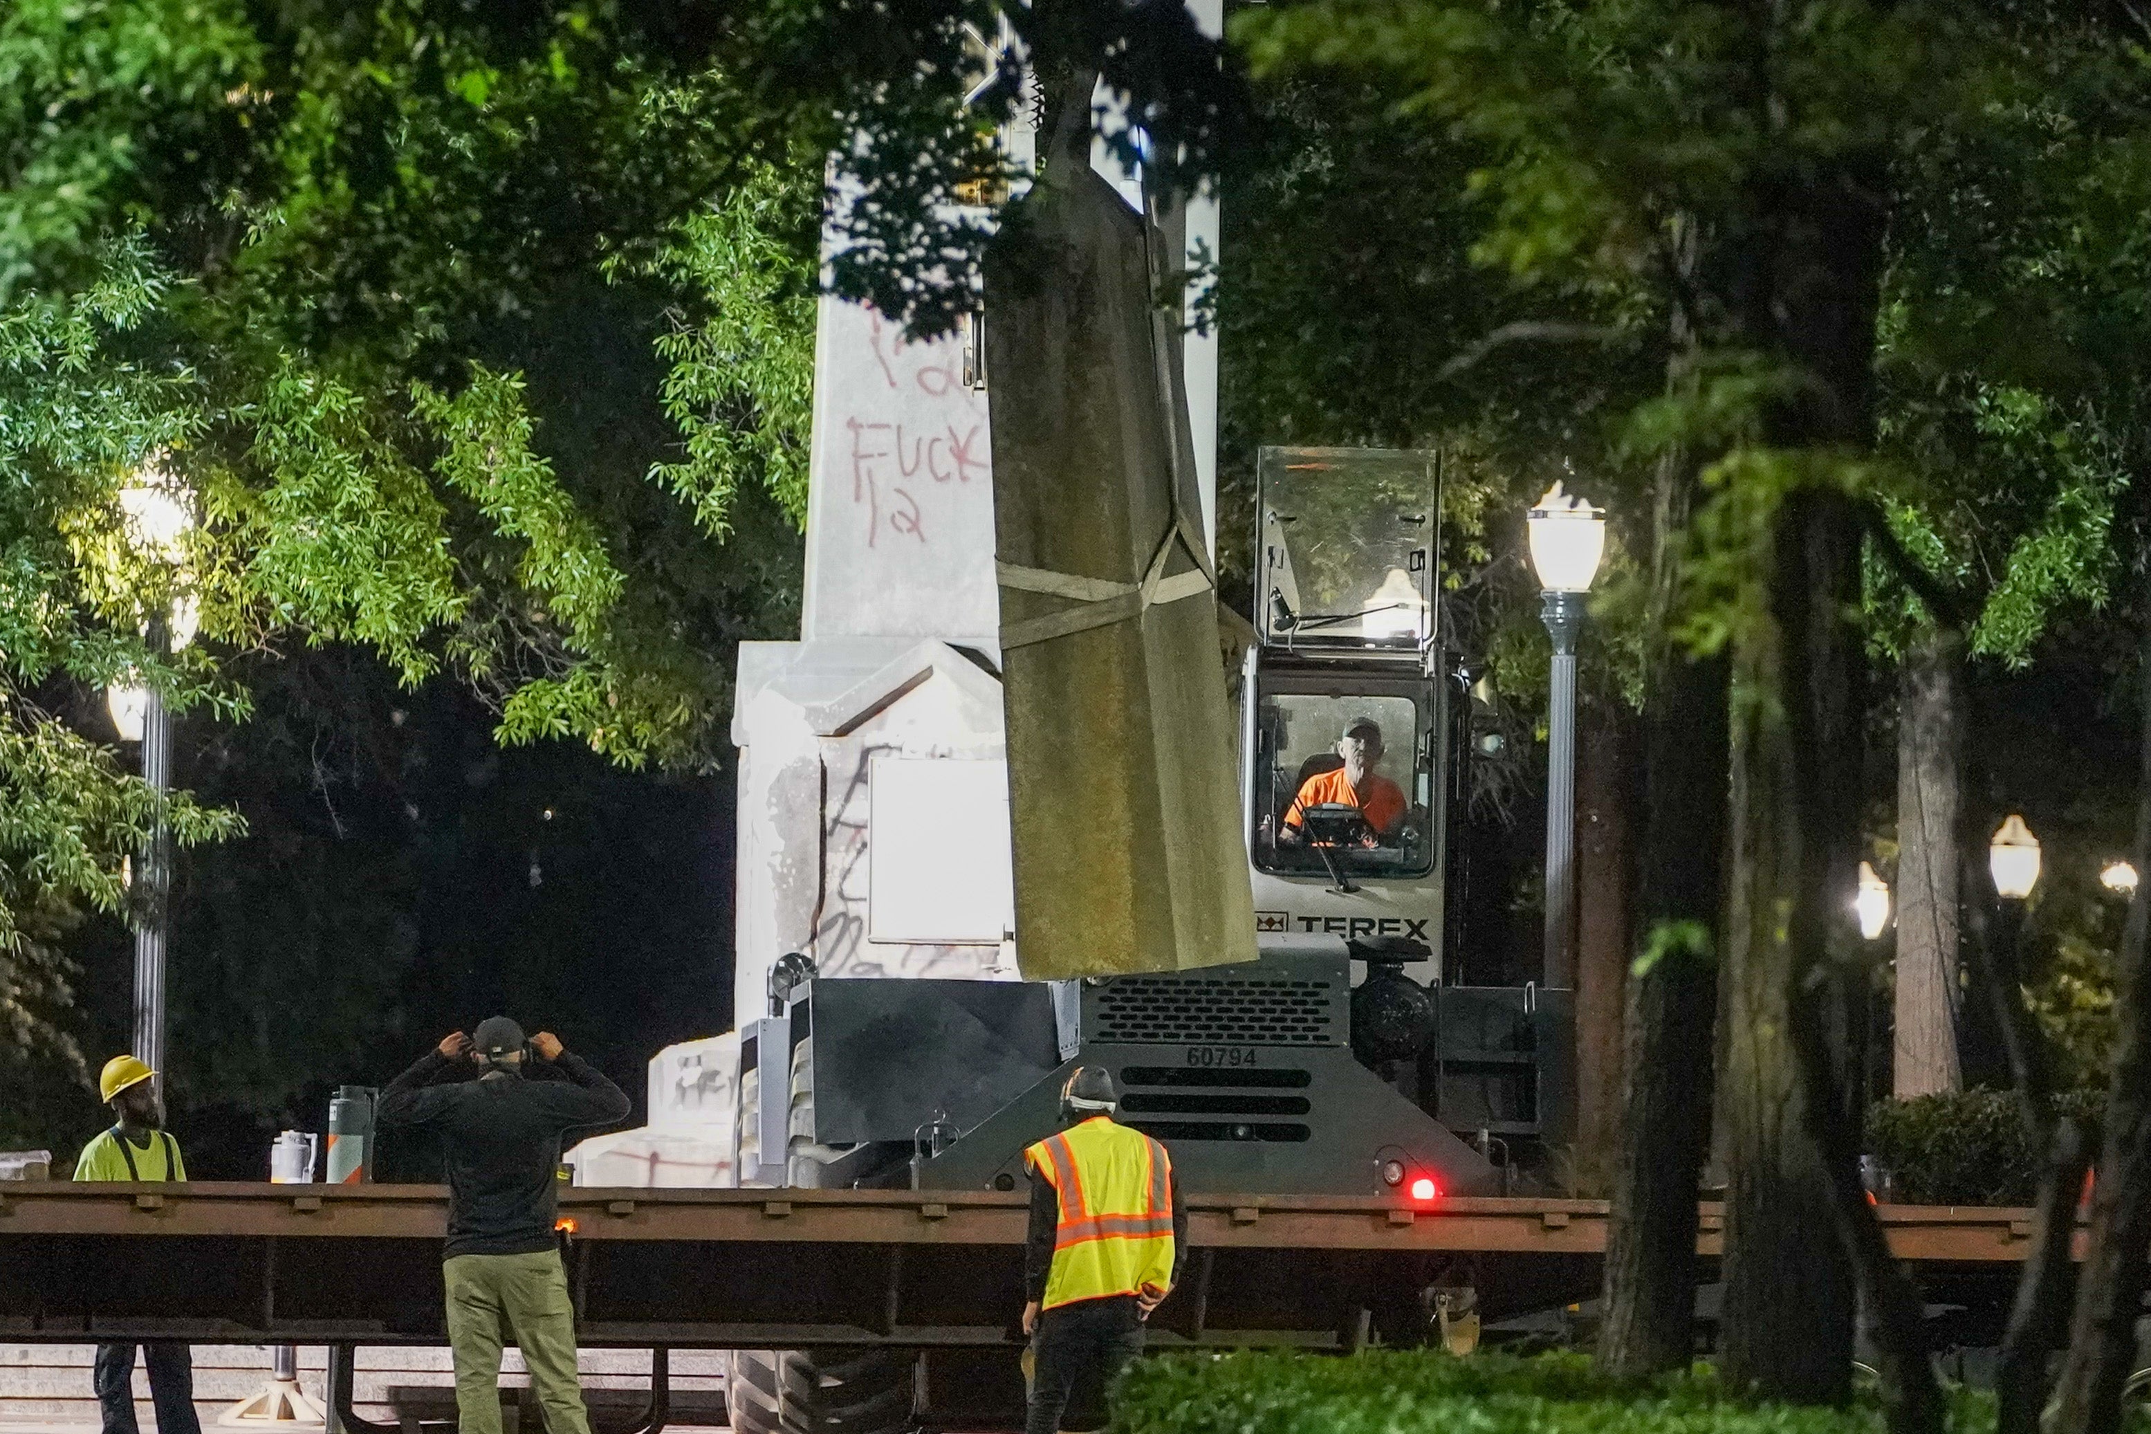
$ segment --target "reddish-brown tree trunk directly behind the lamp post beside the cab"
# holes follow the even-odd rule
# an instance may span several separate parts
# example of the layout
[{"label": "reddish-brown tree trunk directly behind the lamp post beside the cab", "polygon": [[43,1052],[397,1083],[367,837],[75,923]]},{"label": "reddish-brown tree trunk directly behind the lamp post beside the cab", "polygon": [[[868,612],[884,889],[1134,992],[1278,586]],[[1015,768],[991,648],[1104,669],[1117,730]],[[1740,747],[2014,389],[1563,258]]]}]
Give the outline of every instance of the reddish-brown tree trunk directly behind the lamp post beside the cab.
[{"label": "reddish-brown tree trunk directly behind the lamp post beside the cab", "polygon": [[1622,1127],[1622,1017],[1635,957],[1628,894],[1637,798],[1635,716],[1618,699],[1583,709],[1577,772],[1577,1189],[1611,1189]]}]

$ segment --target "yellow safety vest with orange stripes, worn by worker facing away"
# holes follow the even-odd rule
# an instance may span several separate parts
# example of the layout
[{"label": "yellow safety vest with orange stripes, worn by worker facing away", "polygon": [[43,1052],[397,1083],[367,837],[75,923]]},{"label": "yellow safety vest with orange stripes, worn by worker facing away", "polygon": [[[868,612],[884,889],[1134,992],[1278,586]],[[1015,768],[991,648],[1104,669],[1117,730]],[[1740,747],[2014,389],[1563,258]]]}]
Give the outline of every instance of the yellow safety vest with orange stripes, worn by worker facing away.
[{"label": "yellow safety vest with orange stripes, worn by worker facing away", "polygon": [[1170,1288],[1172,1159],[1164,1146],[1095,1116],[1024,1150],[1024,1165],[1060,1195],[1041,1309]]}]

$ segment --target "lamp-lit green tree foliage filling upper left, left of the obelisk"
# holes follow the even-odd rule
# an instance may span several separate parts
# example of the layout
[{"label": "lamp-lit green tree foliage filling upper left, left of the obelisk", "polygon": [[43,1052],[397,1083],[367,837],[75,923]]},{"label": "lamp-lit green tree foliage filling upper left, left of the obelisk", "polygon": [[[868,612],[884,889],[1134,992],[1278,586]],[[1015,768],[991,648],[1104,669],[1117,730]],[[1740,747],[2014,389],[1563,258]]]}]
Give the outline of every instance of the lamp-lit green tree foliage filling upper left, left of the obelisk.
[{"label": "lamp-lit green tree foliage filling upper left, left of the obelisk", "polygon": [[[503,740],[718,761],[731,643],[796,604],[768,494],[804,484],[817,193],[759,155],[830,114],[811,84],[749,103],[725,43],[607,0],[0,17],[0,1056],[56,1038],[22,1013],[67,1002],[54,942],[116,909],[148,821],[97,744],[120,677],[237,718],[245,662],[355,643],[404,686],[471,682]],[[544,374],[587,329],[585,383],[641,355],[604,413]],[[688,501],[645,479],[675,458],[652,439],[671,340]],[[144,475],[198,520],[176,553],[123,518]],[[729,514],[727,486],[753,494]],[[712,544],[727,525],[744,550]],[[153,649],[181,602],[200,641]],[[239,830],[185,795],[172,826]]]}]

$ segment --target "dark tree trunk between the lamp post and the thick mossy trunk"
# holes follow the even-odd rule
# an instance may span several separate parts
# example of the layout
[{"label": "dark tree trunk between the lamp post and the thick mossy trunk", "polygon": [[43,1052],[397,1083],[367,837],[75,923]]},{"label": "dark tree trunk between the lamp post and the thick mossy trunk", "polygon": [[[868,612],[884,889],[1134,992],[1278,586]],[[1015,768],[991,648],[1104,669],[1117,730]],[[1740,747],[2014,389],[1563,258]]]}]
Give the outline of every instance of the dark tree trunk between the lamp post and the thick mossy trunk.
[{"label": "dark tree trunk between the lamp post and the thick mossy trunk", "polygon": [[[1676,262],[1693,273],[1693,221]],[[1669,381],[1693,383],[1693,331],[1673,320]],[[1607,1225],[1598,1365],[1622,1378],[1695,1359],[1695,1206],[1710,1142],[1714,933],[1723,912],[1727,662],[1673,645],[1682,548],[1697,462],[1661,458],[1652,505],[1650,666],[1643,677],[1643,830],[1633,933],[1646,959],[1628,980],[1622,1135]]]}]

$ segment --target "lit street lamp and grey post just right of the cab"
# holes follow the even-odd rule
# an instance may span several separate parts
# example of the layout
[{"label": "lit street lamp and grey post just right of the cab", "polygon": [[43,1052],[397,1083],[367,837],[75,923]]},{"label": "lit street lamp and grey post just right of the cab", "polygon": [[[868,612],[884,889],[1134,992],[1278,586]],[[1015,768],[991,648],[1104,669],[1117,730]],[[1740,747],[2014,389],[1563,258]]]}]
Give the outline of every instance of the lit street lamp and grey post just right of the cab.
[{"label": "lit street lamp and grey post just right of the cab", "polygon": [[1577,849],[1577,630],[1583,593],[1605,557],[1605,514],[1553,484],[1525,525],[1544,589],[1540,619],[1553,639],[1547,720],[1547,985],[1575,985]]}]

